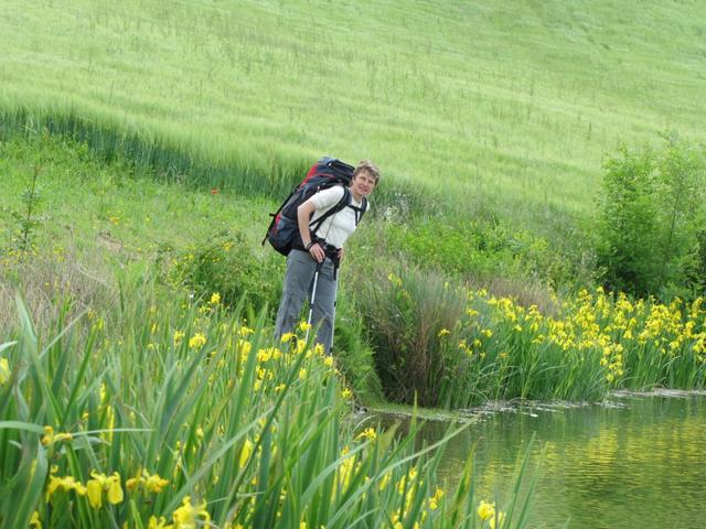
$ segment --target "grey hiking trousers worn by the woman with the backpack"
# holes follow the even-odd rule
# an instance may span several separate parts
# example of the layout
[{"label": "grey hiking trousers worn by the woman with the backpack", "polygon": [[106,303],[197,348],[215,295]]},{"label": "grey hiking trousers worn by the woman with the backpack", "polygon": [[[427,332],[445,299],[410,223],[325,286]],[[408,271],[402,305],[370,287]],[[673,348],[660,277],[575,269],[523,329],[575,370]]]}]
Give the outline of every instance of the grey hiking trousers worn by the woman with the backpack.
[{"label": "grey hiking trousers worn by the woman with the backpack", "polygon": [[[299,323],[301,307],[311,293],[315,271],[317,261],[311,258],[309,252],[291,250],[287,256],[282,301],[279,303],[277,322],[275,323],[275,336],[277,339],[282,334],[293,331]],[[317,342],[323,344],[327,354],[331,350],[333,341],[331,333],[333,331],[334,303],[335,279],[333,261],[327,257],[317,280],[317,292],[311,317],[311,325],[314,327],[319,325]]]}]

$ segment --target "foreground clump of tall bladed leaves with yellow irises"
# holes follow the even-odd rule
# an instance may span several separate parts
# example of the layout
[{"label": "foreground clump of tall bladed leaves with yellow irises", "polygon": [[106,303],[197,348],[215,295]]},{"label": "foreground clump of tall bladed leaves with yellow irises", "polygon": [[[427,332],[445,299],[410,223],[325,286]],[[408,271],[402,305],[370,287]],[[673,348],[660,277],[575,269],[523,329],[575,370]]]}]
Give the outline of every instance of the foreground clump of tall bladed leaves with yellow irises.
[{"label": "foreground clump of tall bladed leaves with yellow irises", "polygon": [[[446,440],[418,452],[414,429],[356,432],[320,350],[272,344],[217,296],[136,287],[109,319],[49,330],[18,300],[0,346],[3,527],[481,526],[472,467],[439,488]],[[524,527],[513,503],[503,527]]]}]

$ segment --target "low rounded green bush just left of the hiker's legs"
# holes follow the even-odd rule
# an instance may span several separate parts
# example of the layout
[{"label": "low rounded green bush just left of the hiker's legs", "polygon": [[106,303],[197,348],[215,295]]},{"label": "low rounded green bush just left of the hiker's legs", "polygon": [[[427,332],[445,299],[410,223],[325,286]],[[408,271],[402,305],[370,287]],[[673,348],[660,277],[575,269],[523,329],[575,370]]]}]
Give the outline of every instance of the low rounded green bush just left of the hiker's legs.
[{"label": "low rounded green bush just left of the hiker's legs", "polygon": [[[167,261],[172,253],[162,250],[160,259]],[[168,281],[191,289],[195,296],[208,300],[217,293],[226,306],[236,306],[245,296],[246,305],[256,310],[276,309],[279,303],[285,261],[274,252],[256,255],[242,233],[218,234],[175,252],[167,262]]]}]

